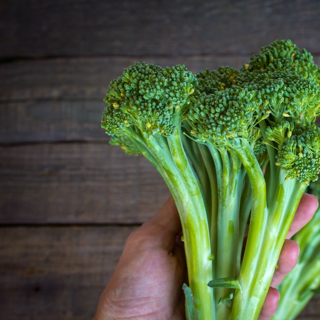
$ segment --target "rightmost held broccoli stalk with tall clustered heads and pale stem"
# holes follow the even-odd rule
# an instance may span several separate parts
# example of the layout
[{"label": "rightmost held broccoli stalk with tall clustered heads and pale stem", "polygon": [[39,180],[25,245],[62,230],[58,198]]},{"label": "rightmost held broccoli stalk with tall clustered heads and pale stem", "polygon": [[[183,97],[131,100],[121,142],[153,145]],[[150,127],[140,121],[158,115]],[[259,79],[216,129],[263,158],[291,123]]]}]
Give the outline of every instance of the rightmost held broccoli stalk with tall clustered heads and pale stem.
[{"label": "rightmost held broccoli stalk with tall clustered heads and pale stem", "polygon": [[[257,60],[264,64],[255,65]],[[305,73],[306,65],[309,73]],[[289,70],[293,66],[294,72]],[[318,78],[318,68],[311,63],[310,55],[304,52],[299,57],[291,41],[276,41],[263,48],[239,74],[239,85],[258,90],[262,110],[269,113],[268,118],[259,122],[269,163],[265,174],[267,210],[265,216],[262,212],[254,216],[252,211],[238,278],[241,290],[235,295],[233,318],[242,318],[250,309],[253,311],[250,318],[258,317],[296,208],[309,182],[317,179],[319,130],[312,123],[318,109]],[[250,178],[252,184],[254,179]],[[253,198],[260,201],[261,195]],[[261,220],[261,226],[256,219]],[[256,241],[263,245],[257,245]],[[255,277],[248,282],[252,273]],[[259,302],[254,302],[258,297]]]}]

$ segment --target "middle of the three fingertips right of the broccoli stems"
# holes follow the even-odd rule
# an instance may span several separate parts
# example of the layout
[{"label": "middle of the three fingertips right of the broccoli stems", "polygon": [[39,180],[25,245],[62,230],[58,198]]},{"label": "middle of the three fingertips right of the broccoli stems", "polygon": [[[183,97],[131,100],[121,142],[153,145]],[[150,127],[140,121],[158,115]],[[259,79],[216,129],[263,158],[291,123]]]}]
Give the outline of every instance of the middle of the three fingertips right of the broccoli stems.
[{"label": "middle of the three fingertips right of the broccoli stems", "polygon": [[298,243],[293,240],[285,240],[278,260],[278,268],[271,281],[271,287],[277,287],[282,282],[288,272],[295,267],[298,262],[298,256]]}]

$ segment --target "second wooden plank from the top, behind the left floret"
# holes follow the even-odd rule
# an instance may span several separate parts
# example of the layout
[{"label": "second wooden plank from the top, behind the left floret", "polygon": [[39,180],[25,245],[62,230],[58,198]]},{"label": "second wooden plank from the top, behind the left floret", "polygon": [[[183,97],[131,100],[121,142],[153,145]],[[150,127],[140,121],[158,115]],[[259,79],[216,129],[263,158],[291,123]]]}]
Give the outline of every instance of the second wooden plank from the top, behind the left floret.
[{"label": "second wooden plank from the top, behind the left floret", "polygon": [[[162,66],[185,63],[239,68],[249,57],[147,58]],[[0,65],[0,143],[106,141],[100,128],[103,98],[112,79],[135,58],[54,59]],[[320,64],[320,57],[315,57]]]}]

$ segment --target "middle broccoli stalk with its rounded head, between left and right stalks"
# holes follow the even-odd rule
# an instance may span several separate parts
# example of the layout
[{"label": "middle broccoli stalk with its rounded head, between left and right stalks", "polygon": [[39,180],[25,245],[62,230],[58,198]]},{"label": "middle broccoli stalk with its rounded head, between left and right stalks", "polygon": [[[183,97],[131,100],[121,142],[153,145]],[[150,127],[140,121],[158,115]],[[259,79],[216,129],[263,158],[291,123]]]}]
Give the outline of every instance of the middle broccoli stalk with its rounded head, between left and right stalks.
[{"label": "middle broccoli stalk with its rounded head, between left and right stalks", "polygon": [[[216,76],[212,75],[211,88],[215,85],[221,87],[216,83]],[[218,287],[215,289],[219,299],[217,318],[230,317],[231,304],[228,301],[232,299],[235,281],[228,285],[228,280],[235,280],[240,270],[240,265],[237,265],[241,254],[238,241],[243,242],[243,239],[239,239],[239,209],[245,170],[255,186],[253,199],[257,194],[262,197],[265,194],[262,170],[250,146],[250,142],[255,143],[259,138],[250,131],[255,122],[254,99],[254,93],[238,87],[208,93],[200,86],[189,111],[191,134],[199,143],[205,142],[209,146],[218,179],[218,201],[214,203],[214,208],[217,208],[216,225],[211,228],[212,236],[216,235],[217,262],[214,281],[210,282],[211,286]],[[253,212],[261,213],[261,208],[265,208],[263,198],[252,203]],[[244,236],[244,232],[241,235]],[[219,280],[225,278],[225,282]]]}]

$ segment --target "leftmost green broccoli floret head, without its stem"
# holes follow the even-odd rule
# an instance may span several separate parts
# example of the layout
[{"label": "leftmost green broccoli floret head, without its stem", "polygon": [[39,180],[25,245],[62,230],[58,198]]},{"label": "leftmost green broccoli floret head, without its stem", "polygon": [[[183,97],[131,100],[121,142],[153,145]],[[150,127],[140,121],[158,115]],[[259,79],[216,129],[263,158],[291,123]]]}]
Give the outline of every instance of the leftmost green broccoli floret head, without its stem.
[{"label": "leftmost green broccoli floret head, without its stem", "polygon": [[163,69],[135,62],[110,83],[102,125],[110,135],[130,127],[170,135],[194,92],[195,76],[184,66]]}]

